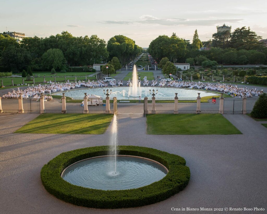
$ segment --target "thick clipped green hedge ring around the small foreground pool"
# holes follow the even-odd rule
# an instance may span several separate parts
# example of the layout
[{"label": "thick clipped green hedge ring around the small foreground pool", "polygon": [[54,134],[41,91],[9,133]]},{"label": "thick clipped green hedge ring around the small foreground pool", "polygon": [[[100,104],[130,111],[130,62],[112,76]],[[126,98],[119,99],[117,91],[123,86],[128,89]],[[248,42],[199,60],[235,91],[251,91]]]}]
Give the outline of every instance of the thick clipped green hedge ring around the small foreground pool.
[{"label": "thick clipped green hedge ring around the small foreground pool", "polygon": [[57,198],[84,207],[127,208],[163,201],[183,190],[189,182],[190,170],[184,158],[153,148],[119,146],[120,155],[135,155],[162,163],[169,170],[161,180],[137,189],[99,190],[76,186],[61,177],[62,171],[77,161],[108,155],[108,146],[88,147],[63,152],[42,167],[41,180],[45,189]]}]

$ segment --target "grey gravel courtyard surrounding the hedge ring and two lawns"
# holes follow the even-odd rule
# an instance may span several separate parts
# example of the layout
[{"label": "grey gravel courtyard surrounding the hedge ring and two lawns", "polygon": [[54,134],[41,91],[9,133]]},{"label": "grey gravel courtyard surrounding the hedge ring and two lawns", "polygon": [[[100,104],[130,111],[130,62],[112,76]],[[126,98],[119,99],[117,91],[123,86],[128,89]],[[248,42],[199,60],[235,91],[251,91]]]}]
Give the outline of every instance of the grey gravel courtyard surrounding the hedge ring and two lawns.
[{"label": "grey gravel courtyard surrounding the hedge ring and two lawns", "polygon": [[103,135],[13,133],[37,116],[0,114],[0,213],[173,213],[173,207],[258,207],[265,211],[256,213],[266,213],[267,129],[261,123],[267,121],[254,121],[240,114],[225,115],[242,135],[147,135],[143,115],[118,115],[120,145],[152,147],[180,155],[186,159],[191,178],[182,192],[162,202],[101,210],[78,207],[52,196],[41,183],[40,170],[61,152],[108,145],[109,129]]}]

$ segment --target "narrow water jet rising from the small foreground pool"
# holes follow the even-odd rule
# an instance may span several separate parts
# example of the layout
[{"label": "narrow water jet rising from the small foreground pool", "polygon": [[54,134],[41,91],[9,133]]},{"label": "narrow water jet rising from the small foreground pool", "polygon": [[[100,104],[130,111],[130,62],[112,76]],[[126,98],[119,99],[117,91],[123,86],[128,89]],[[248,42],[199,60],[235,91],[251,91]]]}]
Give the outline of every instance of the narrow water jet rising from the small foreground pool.
[{"label": "narrow water jet rising from the small foreground pool", "polygon": [[118,155],[118,152],[117,152],[117,144],[118,144],[118,140],[117,140],[117,116],[114,114],[114,117],[113,117],[113,121],[112,121],[112,125],[111,125],[111,147],[110,147],[110,155],[111,158],[114,158],[115,160],[115,174],[117,173],[117,169],[116,169],[116,161],[117,161],[117,155]]}]

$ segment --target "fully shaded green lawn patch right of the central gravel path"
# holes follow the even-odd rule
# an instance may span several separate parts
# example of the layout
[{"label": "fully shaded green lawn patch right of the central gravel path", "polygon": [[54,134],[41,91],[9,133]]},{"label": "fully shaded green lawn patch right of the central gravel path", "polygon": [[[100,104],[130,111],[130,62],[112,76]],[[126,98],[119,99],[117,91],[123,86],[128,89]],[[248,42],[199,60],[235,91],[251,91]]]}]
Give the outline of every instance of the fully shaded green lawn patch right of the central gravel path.
[{"label": "fully shaded green lawn patch right of the central gravel path", "polygon": [[149,114],[147,133],[150,135],[242,134],[221,114]]}]

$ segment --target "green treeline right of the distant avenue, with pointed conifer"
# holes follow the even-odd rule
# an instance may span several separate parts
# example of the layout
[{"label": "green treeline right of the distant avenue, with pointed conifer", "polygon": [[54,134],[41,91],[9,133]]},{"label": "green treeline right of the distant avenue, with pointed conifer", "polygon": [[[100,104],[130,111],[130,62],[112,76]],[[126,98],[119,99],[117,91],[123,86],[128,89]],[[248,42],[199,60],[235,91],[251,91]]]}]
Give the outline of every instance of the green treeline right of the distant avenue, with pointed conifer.
[{"label": "green treeline right of the distant avenue, with pointed conifer", "polygon": [[[173,63],[190,63],[200,65],[206,60],[217,64],[267,64],[267,48],[259,40],[262,39],[250,28],[245,26],[213,34],[213,40],[201,41],[197,29],[193,35],[192,43],[176,36],[160,35],[154,39],[147,52],[160,62],[167,57]],[[209,50],[199,50],[207,47]]]}]

